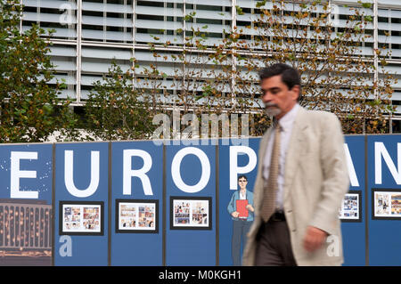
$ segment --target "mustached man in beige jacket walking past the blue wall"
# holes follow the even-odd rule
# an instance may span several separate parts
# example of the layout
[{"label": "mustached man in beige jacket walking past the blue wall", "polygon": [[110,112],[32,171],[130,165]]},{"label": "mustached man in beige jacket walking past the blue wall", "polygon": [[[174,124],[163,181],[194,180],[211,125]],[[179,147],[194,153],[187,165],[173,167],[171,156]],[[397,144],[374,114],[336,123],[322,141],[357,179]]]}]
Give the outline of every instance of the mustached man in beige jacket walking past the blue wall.
[{"label": "mustached man in beige jacket walking past the blue wall", "polygon": [[[255,221],[242,264],[340,265],[338,212],[349,186],[340,121],[299,106],[296,69],[277,63],[259,75],[274,126],[260,142]],[[328,251],[329,236],[340,254]]]}]

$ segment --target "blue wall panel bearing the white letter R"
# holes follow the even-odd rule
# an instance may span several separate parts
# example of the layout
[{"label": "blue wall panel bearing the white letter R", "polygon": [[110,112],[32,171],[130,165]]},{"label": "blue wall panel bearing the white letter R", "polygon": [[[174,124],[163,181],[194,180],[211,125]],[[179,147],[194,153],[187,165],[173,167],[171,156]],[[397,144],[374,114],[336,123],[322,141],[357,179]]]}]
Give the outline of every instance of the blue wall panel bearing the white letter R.
[{"label": "blue wall panel bearing the white letter R", "polygon": [[[134,171],[143,169],[149,177],[148,184],[137,176],[131,177],[131,192],[124,194],[124,152]],[[113,142],[111,143],[112,159],[112,199],[111,199],[111,265],[162,265],[162,227],[163,218],[163,148],[151,142]],[[132,157],[132,158],[131,158]],[[151,160],[151,167],[147,170]],[[127,163],[127,160],[126,160]],[[146,164],[146,165],[145,165]],[[127,171],[127,169],[126,169]],[[135,174],[135,173],[134,173]],[[127,191],[127,189],[126,189]],[[127,199],[157,200],[157,228],[153,232],[126,231],[117,232],[116,200]],[[136,224],[137,225],[137,224]]]}]

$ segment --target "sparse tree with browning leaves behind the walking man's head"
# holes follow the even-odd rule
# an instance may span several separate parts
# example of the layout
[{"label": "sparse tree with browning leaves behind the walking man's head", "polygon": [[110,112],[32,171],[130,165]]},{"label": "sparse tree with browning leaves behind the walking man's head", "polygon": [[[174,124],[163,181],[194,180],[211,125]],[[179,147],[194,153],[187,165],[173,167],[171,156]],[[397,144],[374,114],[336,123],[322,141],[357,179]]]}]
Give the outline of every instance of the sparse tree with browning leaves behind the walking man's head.
[{"label": "sparse tree with browning leaves behind the walking man's head", "polygon": [[[349,8],[348,20],[335,19],[329,1],[273,0],[270,8],[265,4],[258,3],[258,17],[248,27],[255,32],[253,39],[234,47],[245,70],[236,74],[239,93],[258,94],[252,84],[258,79],[255,71],[285,62],[299,69],[301,105],[335,113],[345,133],[382,132],[385,116],[393,113],[391,85],[396,80],[384,69],[384,47],[364,47],[373,40],[372,17]],[[266,123],[265,118],[261,122]]]}]

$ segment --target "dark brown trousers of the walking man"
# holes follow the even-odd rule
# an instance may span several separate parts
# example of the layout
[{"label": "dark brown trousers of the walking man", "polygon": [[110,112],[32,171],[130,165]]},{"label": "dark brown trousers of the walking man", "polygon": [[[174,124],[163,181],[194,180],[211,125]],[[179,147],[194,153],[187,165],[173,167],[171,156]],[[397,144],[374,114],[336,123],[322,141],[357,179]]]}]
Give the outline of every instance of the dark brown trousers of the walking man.
[{"label": "dark brown trousers of the walking man", "polygon": [[290,231],[285,221],[262,223],[257,236],[257,266],[296,266]]}]

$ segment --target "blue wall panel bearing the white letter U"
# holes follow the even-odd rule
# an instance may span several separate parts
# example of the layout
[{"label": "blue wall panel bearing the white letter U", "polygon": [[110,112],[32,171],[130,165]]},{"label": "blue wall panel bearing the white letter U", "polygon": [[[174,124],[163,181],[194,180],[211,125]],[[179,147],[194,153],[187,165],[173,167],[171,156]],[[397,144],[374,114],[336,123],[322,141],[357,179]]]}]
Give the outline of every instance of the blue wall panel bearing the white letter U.
[{"label": "blue wall panel bearing the white letter U", "polygon": [[[109,198],[109,143],[70,143],[56,144],[55,149],[55,265],[107,265],[108,264],[108,198]],[[87,197],[77,197],[71,194],[66,186],[66,166],[68,153],[73,156],[73,183],[78,190],[77,194],[89,194]],[[92,173],[94,171],[94,173]],[[98,178],[98,183],[95,180]],[[93,182],[93,183],[92,183]],[[92,187],[91,187],[92,185]],[[82,192],[82,191],[91,191]],[[77,195],[76,194],[76,195]],[[71,236],[72,254],[65,256],[63,250],[69,239],[60,239],[60,201],[96,201],[102,202],[102,235]],[[71,202],[71,203],[72,203]],[[81,218],[83,216],[81,215]]]}]

